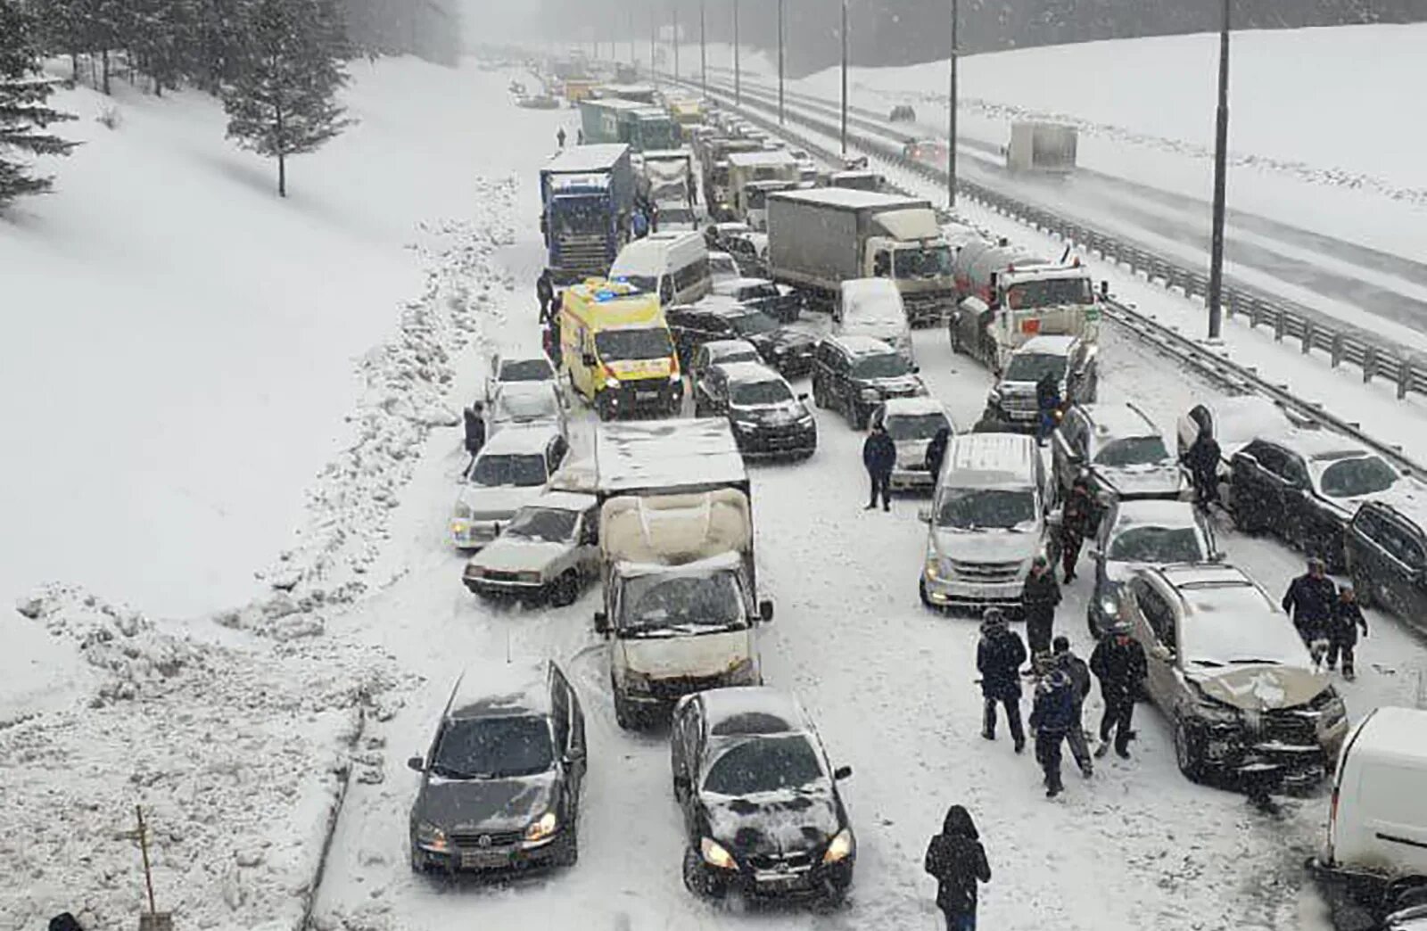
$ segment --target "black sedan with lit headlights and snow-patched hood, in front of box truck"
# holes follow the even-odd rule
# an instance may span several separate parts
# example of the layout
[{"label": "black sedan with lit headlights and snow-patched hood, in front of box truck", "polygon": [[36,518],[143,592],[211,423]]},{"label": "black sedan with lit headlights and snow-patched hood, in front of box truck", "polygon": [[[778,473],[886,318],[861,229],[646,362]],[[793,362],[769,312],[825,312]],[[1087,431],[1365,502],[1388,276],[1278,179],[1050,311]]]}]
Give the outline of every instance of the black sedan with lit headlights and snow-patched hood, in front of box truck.
[{"label": "black sedan with lit headlights and snow-patched hood, in front of box truck", "polygon": [[669,744],[689,891],[842,901],[858,844],[838,782],[852,768],[829,765],[792,695],[763,687],[686,695]]}]

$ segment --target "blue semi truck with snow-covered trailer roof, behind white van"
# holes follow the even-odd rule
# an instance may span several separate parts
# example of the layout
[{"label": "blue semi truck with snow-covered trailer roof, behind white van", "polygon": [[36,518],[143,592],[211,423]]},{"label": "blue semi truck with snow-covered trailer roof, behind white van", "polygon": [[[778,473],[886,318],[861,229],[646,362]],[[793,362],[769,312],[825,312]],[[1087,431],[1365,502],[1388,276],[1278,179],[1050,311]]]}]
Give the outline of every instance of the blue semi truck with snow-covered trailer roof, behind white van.
[{"label": "blue semi truck with snow-covered trailer roof, behind white van", "polygon": [[604,277],[629,240],[635,177],[629,147],[577,146],[539,173],[547,264],[559,284]]}]

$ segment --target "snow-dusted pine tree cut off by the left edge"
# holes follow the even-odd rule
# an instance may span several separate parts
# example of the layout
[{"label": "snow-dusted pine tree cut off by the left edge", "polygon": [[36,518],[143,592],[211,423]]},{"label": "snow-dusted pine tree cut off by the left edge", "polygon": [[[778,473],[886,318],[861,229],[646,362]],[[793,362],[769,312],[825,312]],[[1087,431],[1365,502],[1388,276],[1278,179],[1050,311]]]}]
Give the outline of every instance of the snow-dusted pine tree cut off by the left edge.
[{"label": "snow-dusted pine tree cut off by the left edge", "polygon": [[76,146],[43,131],[51,123],[74,119],[46,106],[53,90],[40,71],[34,23],[16,0],[0,0],[0,207],[23,194],[41,194],[53,184],[51,178],[31,174],[27,160],[7,158],[10,150],[67,156]]}]

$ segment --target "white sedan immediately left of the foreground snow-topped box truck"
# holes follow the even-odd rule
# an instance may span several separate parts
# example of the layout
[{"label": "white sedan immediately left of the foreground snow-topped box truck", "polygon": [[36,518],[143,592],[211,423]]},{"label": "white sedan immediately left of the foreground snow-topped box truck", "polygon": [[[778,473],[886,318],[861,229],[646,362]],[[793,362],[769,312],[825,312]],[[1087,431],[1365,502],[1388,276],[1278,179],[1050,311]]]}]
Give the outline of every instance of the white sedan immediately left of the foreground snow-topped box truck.
[{"label": "white sedan immediately left of the foreground snow-topped box truck", "polygon": [[599,501],[547,491],[471,557],[461,578],[472,594],[565,607],[598,575]]}]

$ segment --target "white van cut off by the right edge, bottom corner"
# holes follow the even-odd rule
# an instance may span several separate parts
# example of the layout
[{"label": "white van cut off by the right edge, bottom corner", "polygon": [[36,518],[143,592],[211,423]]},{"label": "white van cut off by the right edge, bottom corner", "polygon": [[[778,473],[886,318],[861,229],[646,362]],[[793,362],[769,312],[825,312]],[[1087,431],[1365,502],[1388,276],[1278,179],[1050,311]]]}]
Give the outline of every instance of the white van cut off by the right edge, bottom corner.
[{"label": "white van cut off by the right edge, bottom corner", "polygon": [[1427,882],[1427,711],[1377,708],[1349,734],[1311,867],[1370,911],[1391,910],[1394,882]]}]

